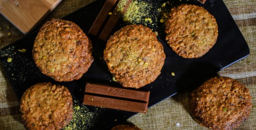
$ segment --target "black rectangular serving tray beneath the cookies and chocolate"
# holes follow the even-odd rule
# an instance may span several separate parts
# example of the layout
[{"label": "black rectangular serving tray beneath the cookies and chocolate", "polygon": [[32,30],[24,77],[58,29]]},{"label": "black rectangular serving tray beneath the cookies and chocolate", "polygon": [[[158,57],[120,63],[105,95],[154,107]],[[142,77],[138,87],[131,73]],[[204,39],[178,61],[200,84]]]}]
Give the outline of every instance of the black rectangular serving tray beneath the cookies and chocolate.
[{"label": "black rectangular serving tray beneath the cookies and chocolate", "polygon": [[[161,6],[166,0],[144,1],[154,2],[157,7]],[[105,0],[97,0],[88,6],[69,14],[63,19],[76,23],[85,33],[87,33],[103,7],[104,2]],[[177,92],[192,90],[193,88],[198,87],[198,85],[202,84],[206,79],[213,77],[216,72],[245,58],[250,53],[243,35],[222,0],[207,0],[205,4],[201,4],[196,0],[172,0],[170,2],[172,3],[172,6],[177,6],[181,3],[203,6],[216,18],[219,36],[216,44],[204,56],[201,58],[186,59],[178,56],[167,45],[163,23],[158,22],[156,23],[157,26],[149,26],[153,30],[158,31],[158,40],[164,46],[166,55],[165,64],[159,77],[151,84],[140,88],[141,90],[150,91],[149,107]],[[151,13],[152,15],[155,15],[154,10],[151,10]],[[160,18],[160,16],[156,17]],[[120,21],[113,32],[124,25],[126,24]],[[121,87],[118,83],[112,81],[112,76],[103,60],[103,50],[106,42],[91,35],[88,36],[93,43],[94,62],[81,79],[71,82],[56,82],[43,75],[34,64],[31,53],[37,32],[38,31],[30,33],[30,35],[27,35],[0,50],[1,65],[19,98],[28,87],[44,81],[65,85],[68,87],[73,97],[79,99],[81,102],[85,90],[85,82],[95,82]],[[19,52],[18,49],[26,49],[27,51],[22,53]],[[7,62],[7,58],[12,58],[12,62]],[[174,72],[175,76],[172,76],[171,72]],[[87,127],[88,129],[93,130],[110,129],[114,125],[119,124],[136,114],[108,108],[93,106],[86,107],[88,107],[89,111],[97,113],[97,117],[95,117],[97,121],[95,121],[92,126]]]}]

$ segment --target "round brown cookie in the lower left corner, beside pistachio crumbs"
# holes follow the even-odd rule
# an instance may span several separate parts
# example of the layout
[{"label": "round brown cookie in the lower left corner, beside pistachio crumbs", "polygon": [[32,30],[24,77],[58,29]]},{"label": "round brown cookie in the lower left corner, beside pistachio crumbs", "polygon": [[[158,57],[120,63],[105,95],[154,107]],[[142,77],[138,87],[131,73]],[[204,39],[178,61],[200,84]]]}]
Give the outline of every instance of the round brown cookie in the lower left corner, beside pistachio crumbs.
[{"label": "round brown cookie in the lower left corner, beside pistachio crumbs", "polygon": [[20,111],[29,130],[59,130],[72,119],[72,96],[64,86],[38,83],[22,95]]}]

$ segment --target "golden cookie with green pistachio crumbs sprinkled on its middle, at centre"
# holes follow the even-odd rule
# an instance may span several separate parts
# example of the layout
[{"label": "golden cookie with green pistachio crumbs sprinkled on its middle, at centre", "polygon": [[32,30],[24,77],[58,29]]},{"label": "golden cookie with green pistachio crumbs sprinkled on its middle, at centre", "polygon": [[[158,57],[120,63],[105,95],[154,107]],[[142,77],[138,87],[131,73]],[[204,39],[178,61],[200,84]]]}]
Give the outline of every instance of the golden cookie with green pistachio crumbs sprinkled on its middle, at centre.
[{"label": "golden cookie with green pistachio crumbs sprinkled on its middle, at centre", "polygon": [[165,54],[155,33],[142,25],[128,25],[110,36],[104,60],[123,87],[140,88],[161,73]]}]

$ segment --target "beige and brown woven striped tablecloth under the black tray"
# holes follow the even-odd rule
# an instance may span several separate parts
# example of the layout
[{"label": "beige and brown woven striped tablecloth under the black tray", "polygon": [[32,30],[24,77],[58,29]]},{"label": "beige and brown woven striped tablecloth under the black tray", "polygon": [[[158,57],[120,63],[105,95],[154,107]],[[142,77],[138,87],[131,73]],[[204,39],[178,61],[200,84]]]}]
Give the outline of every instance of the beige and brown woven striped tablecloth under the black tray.
[{"label": "beige and brown woven striped tablecloth under the black tray", "polygon": [[[92,1],[94,0],[63,0],[42,23],[51,18],[63,17]],[[224,2],[249,45],[250,56],[220,71],[219,75],[237,79],[249,88],[253,107],[249,120],[237,130],[256,130],[256,0],[224,0]],[[10,28],[7,29],[6,26]],[[0,48],[24,36],[3,16],[0,16],[0,27]],[[8,36],[9,32],[10,36]],[[18,99],[2,68],[0,70],[0,130],[23,130]],[[128,121],[143,130],[207,130],[197,124],[186,110],[188,110],[188,94],[179,93],[149,108],[147,114],[137,114]]]}]

